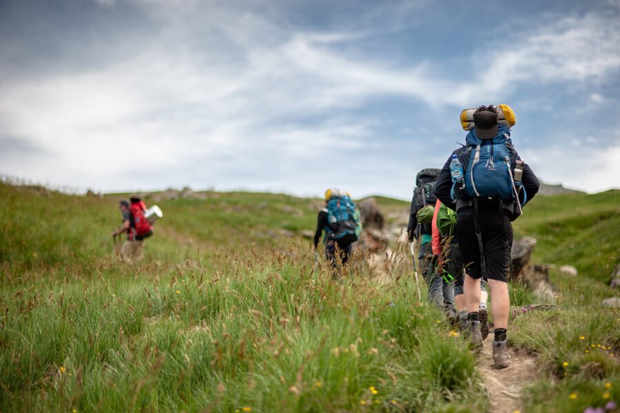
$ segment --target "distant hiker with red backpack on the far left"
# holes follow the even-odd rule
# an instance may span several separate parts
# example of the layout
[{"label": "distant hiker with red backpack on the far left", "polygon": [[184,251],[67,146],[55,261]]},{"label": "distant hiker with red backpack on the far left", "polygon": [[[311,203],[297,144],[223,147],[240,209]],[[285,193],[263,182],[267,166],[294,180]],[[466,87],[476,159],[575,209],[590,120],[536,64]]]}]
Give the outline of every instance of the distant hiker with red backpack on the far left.
[{"label": "distant hiker with red backpack on the far left", "polygon": [[138,197],[132,197],[130,201],[123,199],[118,203],[118,208],[123,214],[123,223],[116,231],[112,232],[112,236],[116,238],[123,232],[127,233],[127,240],[123,243],[120,252],[121,259],[134,262],[142,258],[142,241],[152,236],[153,226],[144,215],[145,203]]}]

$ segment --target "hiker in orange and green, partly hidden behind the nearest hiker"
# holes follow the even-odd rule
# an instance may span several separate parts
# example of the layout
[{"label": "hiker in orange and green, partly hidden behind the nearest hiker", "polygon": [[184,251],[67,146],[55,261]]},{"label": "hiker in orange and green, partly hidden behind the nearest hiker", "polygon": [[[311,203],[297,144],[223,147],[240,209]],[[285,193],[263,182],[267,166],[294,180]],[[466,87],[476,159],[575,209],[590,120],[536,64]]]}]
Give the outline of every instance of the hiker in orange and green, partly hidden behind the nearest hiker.
[{"label": "hiker in orange and green, partly hidden behind the nearest hiker", "polygon": [[[454,289],[454,305],[458,313],[458,325],[461,334],[468,334],[467,309],[465,305],[465,294],[463,283],[465,280],[465,267],[459,250],[459,243],[455,235],[456,230],[456,212],[446,207],[437,199],[435,203],[435,215],[433,216],[433,239],[431,245],[433,247],[433,255],[438,263],[438,271],[447,279],[453,280]],[[446,280],[447,281],[447,280]],[[488,312],[486,309],[486,301],[488,293],[483,280],[480,282],[480,330],[482,339],[486,340],[488,336]]]}]

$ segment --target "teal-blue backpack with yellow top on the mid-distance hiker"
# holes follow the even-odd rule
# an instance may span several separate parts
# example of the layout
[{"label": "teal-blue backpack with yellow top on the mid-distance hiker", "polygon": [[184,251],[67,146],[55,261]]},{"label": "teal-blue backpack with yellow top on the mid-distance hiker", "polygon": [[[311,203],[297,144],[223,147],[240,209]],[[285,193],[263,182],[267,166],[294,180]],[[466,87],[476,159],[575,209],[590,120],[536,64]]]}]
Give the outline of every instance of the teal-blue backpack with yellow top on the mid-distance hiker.
[{"label": "teal-blue backpack with yellow top on the mid-distance hiker", "polygon": [[327,203],[327,239],[347,245],[358,241],[362,233],[360,211],[344,192],[334,191]]}]

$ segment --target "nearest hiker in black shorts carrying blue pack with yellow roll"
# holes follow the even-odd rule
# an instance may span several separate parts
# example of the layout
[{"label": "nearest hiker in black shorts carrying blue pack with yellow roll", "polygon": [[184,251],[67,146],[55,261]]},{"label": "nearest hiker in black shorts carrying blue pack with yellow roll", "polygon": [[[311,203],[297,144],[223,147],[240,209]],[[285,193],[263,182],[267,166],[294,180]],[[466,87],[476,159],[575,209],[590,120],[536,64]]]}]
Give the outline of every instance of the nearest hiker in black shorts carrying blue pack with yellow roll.
[{"label": "nearest hiker in black shorts carrying blue pack with yellow roll", "polygon": [[510,299],[508,271],[513,243],[511,221],[538,192],[539,182],[517,154],[510,139],[516,117],[508,105],[464,110],[461,123],[466,145],[446,161],[435,194],[457,212],[456,236],[466,267],[464,292],[471,342],[482,347],[480,280],[488,280],[493,310],[495,367],[510,365],[506,328]]}]

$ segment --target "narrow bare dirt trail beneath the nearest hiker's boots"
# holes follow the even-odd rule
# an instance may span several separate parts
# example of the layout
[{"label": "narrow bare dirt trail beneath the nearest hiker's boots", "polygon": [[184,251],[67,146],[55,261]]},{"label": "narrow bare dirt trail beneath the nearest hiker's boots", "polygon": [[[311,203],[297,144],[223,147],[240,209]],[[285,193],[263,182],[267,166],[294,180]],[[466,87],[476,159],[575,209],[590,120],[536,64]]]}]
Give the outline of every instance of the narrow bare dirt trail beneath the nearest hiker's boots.
[{"label": "narrow bare dirt trail beneath the nearest hiker's boots", "polygon": [[489,412],[513,413],[521,410],[521,388],[539,372],[536,358],[509,345],[508,351],[513,356],[510,367],[497,370],[493,367],[492,346],[493,332],[484,341],[484,348],[477,359],[478,370],[486,385]]}]

